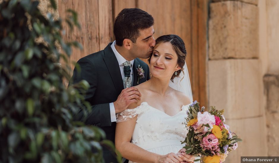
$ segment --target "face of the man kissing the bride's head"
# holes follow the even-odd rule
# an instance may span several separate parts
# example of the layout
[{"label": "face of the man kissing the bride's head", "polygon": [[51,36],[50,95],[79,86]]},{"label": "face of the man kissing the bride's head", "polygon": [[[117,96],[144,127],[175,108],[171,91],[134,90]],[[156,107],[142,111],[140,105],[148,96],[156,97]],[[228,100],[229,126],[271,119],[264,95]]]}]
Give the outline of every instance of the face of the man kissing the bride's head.
[{"label": "face of the man kissing the bride's head", "polygon": [[134,57],[146,59],[151,56],[153,47],[155,46],[153,34],[153,26],[139,31],[139,37],[137,38],[136,43],[133,43],[131,49],[131,54],[133,54]]}]

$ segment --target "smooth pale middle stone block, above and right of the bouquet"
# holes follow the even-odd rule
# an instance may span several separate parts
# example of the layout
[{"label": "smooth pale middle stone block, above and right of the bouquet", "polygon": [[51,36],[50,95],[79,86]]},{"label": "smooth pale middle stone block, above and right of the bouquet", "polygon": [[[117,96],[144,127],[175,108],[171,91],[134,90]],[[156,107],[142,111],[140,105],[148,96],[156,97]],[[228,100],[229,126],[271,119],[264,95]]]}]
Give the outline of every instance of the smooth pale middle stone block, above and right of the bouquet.
[{"label": "smooth pale middle stone block, above and right of the bouquet", "polygon": [[262,116],[258,59],[210,60],[209,105],[224,109],[227,119]]}]

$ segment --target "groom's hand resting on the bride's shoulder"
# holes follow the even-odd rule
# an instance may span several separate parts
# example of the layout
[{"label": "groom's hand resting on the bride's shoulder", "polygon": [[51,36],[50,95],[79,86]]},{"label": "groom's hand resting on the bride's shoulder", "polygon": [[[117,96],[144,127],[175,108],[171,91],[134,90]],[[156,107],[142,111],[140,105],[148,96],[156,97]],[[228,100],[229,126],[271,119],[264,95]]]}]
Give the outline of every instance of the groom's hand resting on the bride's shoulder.
[{"label": "groom's hand resting on the bride's shoulder", "polygon": [[125,88],[121,91],[117,100],[113,103],[115,113],[120,113],[130,106],[132,103],[137,103],[140,100],[141,94],[137,88]]}]

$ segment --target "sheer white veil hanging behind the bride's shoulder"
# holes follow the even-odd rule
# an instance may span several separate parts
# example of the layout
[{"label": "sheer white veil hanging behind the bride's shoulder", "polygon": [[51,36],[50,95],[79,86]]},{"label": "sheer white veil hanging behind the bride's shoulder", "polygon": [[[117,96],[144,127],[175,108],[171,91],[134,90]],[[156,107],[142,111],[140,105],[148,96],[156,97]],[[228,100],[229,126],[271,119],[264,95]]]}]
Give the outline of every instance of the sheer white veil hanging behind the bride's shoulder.
[{"label": "sheer white veil hanging behind the bride's shoulder", "polygon": [[169,86],[175,90],[183,92],[190,98],[191,102],[193,102],[193,94],[192,94],[190,77],[189,77],[189,72],[188,72],[186,62],[182,70],[184,71],[184,75],[183,72],[181,72],[178,77],[173,79],[173,82],[169,81]]}]

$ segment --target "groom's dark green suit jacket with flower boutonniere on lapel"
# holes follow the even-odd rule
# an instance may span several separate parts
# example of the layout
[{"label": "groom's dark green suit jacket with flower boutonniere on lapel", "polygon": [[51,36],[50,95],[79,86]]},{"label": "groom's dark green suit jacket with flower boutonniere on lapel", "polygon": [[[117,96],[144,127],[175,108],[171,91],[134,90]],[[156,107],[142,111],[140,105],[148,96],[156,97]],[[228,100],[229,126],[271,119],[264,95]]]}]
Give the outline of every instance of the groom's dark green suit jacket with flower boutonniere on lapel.
[{"label": "groom's dark green suit jacket with flower boutonniere on lapel", "polygon": [[[111,44],[108,44],[104,50],[78,60],[77,64],[80,65],[81,72],[78,73],[77,68],[74,68],[71,83],[86,80],[90,84],[85,99],[91,103],[92,111],[87,116],[85,124],[102,128],[106,133],[106,138],[114,143],[116,123],[111,122],[109,103],[116,101],[124,86],[118,61],[110,47]],[[133,64],[132,86],[138,85],[136,69],[138,66],[142,67],[145,71],[145,77],[140,79],[139,83],[150,79],[148,65],[139,58],[136,58]],[[83,116],[82,112],[80,112],[75,116],[75,119],[81,120]],[[103,148],[103,156],[105,162],[117,162],[115,154],[112,154],[107,148]]]}]

